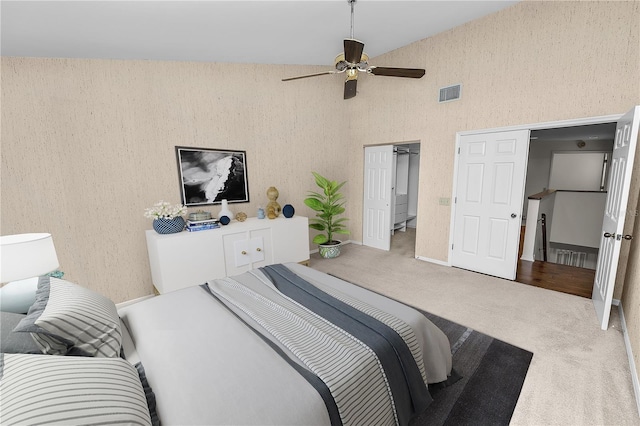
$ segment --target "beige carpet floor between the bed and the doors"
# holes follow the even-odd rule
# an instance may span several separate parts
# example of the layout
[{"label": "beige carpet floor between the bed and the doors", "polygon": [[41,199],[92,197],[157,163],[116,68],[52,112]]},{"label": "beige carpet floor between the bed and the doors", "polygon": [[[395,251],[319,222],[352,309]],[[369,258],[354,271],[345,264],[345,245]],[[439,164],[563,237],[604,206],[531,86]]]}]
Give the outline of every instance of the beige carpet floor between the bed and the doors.
[{"label": "beige carpet floor between the bed and the doors", "polygon": [[589,299],[416,260],[414,232],[310,266],[533,352],[513,425],[640,425],[616,308],[602,331]]}]

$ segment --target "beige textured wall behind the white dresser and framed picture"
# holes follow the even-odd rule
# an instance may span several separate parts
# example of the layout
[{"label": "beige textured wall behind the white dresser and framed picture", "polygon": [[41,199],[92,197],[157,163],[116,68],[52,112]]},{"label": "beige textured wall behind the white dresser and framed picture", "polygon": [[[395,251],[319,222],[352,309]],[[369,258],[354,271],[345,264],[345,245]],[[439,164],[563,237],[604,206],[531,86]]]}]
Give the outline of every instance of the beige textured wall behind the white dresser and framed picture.
[{"label": "beige textured wall behind the white dresser and framed picture", "polygon": [[2,58],[2,234],[50,232],[65,276],[116,302],[150,294],[143,212],[180,202],[176,145],[247,151],[251,203],[232,211],[274,185],[309,215],[310,171],[348,164],[340,81],[280,81],[310,71]]}]

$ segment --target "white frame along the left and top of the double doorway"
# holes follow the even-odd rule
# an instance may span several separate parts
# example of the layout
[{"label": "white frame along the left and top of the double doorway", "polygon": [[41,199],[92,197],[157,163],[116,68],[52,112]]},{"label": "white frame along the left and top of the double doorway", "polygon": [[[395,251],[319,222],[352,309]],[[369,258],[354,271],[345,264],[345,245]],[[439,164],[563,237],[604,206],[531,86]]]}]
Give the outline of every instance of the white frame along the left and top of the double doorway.
[{"label": "white frame along the left and top of the double doorway", "polygon": [[[541,123],[533,123],[533,124],[523,124],[516,126],[507,126],[507,127],[496,127],[490,129],[479,129],[479,130],[465,130],[456,132],[456,145],[455,151],[458,152],[460,148],[460,137],[464,135],[476,135],[482,133],[496,133],[496,132],[506,132],[512,130],[544,130],[544,129],[556,129],[560,127],[576,127],[576,126],[588,126],[591,124],[604,124],[611,123],[614,121],[618,121],[624,114],[612,114],[612,115],[603,115],[597,117],[586,117],[586,118],[577,118],[577,119],[569,119],[569,120],[558,120],[558,121],[547,121]],[[451,189],[451,200],[455,200],[456,197],[456,188],[458,187],[458,165],[459,156],[455,156],[455,161],[453,165],[453,187]],[[529,156],[527,156],[526,165],[529,164]],[[632,166],[633,167],[633,166]],[[526,194],[525,194],[526,196]],[[522,204],[524,206],[524,199],[522,200]],[[455,214],[456,214],[456,203],[453,202],[451,204],[451,214],[449,217],[449,249],[447,250],[447,266],[452,266],[451,264],[451,246],[454,241],[454,233],[455,233]],[[518,236],[519,238],[519,236]],[[518,243],[519,244],[519,243]],[[516,259],[517,262],[517,259]]]}]

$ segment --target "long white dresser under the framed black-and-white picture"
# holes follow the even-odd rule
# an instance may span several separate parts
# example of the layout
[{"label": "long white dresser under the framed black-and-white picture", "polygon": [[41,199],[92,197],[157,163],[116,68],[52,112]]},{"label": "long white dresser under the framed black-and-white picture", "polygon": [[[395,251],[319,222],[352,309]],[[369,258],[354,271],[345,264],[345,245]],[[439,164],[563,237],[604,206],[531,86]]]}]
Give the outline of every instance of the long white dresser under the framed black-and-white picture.
[{"label": "long white dresser under the framed black-and-white picture", "polygon": [[247,218],[206,231],[146,231],[151,278],[159,293],[250,269],[309,260],[309,220]]}]

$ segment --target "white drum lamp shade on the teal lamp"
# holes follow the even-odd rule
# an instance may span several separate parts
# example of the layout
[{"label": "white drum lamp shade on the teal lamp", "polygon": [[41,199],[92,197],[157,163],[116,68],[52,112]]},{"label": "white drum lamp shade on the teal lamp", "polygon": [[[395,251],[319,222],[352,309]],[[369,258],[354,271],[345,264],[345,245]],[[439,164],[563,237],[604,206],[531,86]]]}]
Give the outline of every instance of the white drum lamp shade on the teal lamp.
[{"label": "white drum lamp shade on the teal lamp", "polygon": [[0,237],[0,282],[37,277],[60,264],[51,234],[18,234]]}]

